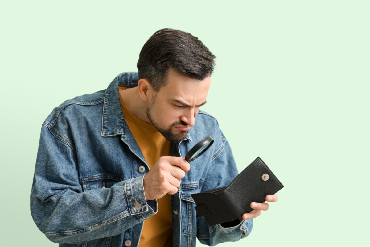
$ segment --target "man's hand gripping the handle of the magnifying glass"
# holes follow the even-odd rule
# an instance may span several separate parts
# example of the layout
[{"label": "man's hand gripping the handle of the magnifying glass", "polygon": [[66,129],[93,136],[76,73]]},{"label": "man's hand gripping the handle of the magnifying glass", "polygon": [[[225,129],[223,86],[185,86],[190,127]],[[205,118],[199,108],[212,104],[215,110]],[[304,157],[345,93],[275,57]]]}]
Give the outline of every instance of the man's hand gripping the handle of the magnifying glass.
[{"label": "man's hand gripping the handle of the magnifying glass", "polygon": [[162,156],[144,176],[144,193],[147,200],[165,194],[176,194],[180,179],[190,170],[190,164],[181,157]]}]

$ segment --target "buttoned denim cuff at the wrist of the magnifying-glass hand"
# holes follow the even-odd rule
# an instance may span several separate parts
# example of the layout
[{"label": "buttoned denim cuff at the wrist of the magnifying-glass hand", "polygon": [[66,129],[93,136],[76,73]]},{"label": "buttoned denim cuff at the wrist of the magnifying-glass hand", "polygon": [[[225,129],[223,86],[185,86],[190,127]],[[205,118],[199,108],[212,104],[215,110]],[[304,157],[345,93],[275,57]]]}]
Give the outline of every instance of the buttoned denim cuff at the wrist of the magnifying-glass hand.
[{"label": "buttoned denim cuff at the wrist of the magnifying-glass hand", "polygon": [[140,221],[156,214],[158,211],[157,200],[147,201],[144,193],[144,176],[127,180],[125,191],[127,205],[131,215],[136,215]]}]

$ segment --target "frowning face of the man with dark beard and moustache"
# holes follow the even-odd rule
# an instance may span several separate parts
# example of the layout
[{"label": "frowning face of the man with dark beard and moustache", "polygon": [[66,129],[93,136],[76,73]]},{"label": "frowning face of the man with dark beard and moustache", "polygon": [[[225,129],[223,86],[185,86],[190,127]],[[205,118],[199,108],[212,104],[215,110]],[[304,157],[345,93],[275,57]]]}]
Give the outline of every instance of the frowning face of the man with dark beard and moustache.
[{"label": "frowning face of the man with dark beard and moustache", "polygon": [[147,116],[169,141],[182,141],[206,103],[211,77],[203,81],[169,70],[167,84],[148,100]]}]

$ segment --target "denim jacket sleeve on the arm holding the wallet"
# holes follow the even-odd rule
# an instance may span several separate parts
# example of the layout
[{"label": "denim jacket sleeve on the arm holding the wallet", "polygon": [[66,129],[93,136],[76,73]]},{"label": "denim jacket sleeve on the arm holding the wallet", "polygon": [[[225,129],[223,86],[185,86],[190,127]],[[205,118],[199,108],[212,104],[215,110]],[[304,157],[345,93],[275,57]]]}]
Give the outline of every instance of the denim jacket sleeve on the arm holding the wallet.
[{"label": "denim jacket sleeve on the arm holding the wallet", "polygon": [[[222,145],[212,158],[203,185],[204,191],[226,186],[238,175],[231,147],[222,132],[221,135]],[[202,244],[215,246],[223,242],[238,241],[240,238],[248,236],[252,231],[252,226],[252,219],[243,220],[232,227],[223,227],[221,224],[209,226],[204,217],[197,217],[197,237]]]}]

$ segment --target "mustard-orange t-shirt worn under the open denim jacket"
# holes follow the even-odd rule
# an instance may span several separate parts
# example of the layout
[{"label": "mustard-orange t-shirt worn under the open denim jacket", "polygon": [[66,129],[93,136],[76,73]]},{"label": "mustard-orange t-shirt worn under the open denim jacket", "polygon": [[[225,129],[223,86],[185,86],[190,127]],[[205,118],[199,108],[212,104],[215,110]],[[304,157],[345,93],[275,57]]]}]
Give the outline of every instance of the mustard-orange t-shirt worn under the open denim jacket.
[{"label": "mustard-orange t-shirt worn under the open denim jacket", "polygon": [[[119,87],[119,91],[125,90],[125,87]],[[121,107],[125,121],[134,136],[145,161],[149,168],[152,168],[155,162],[161,156],[171,155],[171,142],[166,140],[157,128],[132,114],[121,100]],[[172,218],[171,218],[171,197],[166,194],[157,199],[158,212],[144,221],[139,247],[163,247],[173,246],[172,240]]]}]

